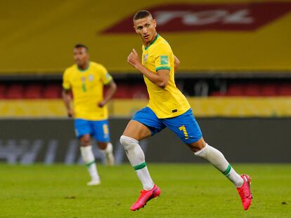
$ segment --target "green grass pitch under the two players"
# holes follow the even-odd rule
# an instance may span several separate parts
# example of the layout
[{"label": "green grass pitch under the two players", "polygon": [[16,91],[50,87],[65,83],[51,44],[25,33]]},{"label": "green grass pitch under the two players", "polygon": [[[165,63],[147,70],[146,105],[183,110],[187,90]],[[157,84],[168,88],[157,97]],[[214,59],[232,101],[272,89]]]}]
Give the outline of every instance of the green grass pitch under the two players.
[{"label": "green grass pitch under the two players", "polygon": [[0,217],[291,217],[291,165],[233,166],[252,177],[250,210],[208,164],[148,163],[162,194],[136,212],[141,184],[130,165],[98,165],[102,184],[88,187],[82,165],[0,164]]}]

